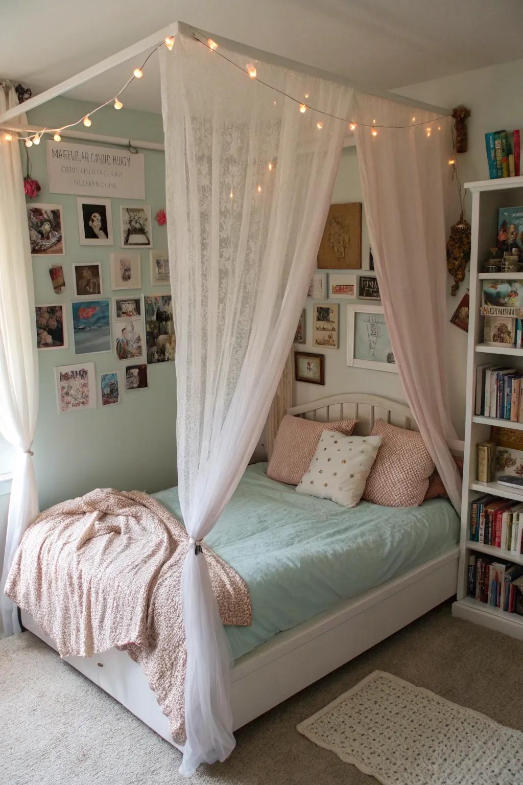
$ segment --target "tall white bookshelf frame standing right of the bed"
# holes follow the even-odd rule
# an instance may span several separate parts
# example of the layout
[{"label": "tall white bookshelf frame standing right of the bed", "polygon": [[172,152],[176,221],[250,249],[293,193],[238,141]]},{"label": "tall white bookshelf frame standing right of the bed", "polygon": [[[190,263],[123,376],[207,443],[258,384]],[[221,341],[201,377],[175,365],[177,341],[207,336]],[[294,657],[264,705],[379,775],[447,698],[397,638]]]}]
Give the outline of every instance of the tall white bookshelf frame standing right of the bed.
[{"label": "tall white bookshelf frame standing right of the bed", "polygon": [[[486,603],[467,597],[467,568],[471,553],[476,556],[488,555],[498,559],[523,564],[523,555],[500,550],[493,546],[470,542],[469,515],[470,504],[474,498],[486,493],[501,498],[523,502],[523,489],[503,487],[497,483],[478,482],[477,445],[488,440],[492,425],[523,430],[523,423],[509,422],[493,417],[474,414],[476,392],[476,367],[488,360],[499,365],[521,367],[523,373],[523,349],[507,349],[503,346],[486,346],[483,343],[483,317],[481,304],[481,283],[485,279],[523,279],[520,273],[481,272],[489,256],[489,248],[496,244],[499,207],[523,206],[523,177],[504,177],[500,180],[485,180],[466,183],[465,188],[472,195],[472,247],[470,253],[470,317],[467,345],[467,410],[465,414],[465,457],[463,462],[463,496],[461,502],[461,537],[459,546],[459,573],[456,602],[452,604],[452,614],[460,619],[490,627],[523,640],[523,616],[506,613],[492,608]],[[493,358],[491,355],[499,355]],[[521,359],[520,359],[521,358]]]}]

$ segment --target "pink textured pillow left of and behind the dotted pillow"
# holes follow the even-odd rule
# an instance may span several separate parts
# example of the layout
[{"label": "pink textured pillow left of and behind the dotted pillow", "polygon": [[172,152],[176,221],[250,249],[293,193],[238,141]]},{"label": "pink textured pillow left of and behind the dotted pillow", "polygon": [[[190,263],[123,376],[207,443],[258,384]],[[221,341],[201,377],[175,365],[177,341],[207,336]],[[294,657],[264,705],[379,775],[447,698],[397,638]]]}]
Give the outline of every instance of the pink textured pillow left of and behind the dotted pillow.
[{"label": "pink textured pillow left of and behind the dotted pillow", "polygon": [[357,422],[358,420],[316,422],[285,414],[274,441],[267,477],[278,480],[278,483],[297,485],[311,465],[321,433],[338,431],[350,436]]}]

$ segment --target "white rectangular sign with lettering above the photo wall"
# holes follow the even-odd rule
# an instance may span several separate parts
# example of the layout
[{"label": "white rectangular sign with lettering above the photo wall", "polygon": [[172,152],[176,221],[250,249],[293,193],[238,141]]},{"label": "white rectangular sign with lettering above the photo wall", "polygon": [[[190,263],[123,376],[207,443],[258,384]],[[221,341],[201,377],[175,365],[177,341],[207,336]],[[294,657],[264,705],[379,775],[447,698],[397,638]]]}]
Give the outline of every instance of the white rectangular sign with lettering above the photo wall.
[{"label": "white rectangular sign with lettering above the photo wall", "polygon": [[48,141],[47,173],[53,194],[145,199],[141,152]]}]

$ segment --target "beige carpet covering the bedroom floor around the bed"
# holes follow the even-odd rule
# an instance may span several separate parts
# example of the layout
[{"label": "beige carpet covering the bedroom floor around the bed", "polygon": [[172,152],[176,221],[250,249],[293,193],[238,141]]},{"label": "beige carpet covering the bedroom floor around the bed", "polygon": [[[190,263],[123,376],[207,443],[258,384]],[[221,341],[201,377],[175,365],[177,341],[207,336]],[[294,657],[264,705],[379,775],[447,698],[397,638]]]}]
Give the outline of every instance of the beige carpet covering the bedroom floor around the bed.
[{"label": "beige carpet covering the bedroom floor around the bed", "polygon": [[[514,699],[523,694],[522,655],[523,643],[452,619],[445,604],[241,728],[231,758],[192,781],[376,785],[296,731],[373,670],[523,730]],[[31,633],[0,641],[1,785],[180,785],[179,763],[173,747]]]}]

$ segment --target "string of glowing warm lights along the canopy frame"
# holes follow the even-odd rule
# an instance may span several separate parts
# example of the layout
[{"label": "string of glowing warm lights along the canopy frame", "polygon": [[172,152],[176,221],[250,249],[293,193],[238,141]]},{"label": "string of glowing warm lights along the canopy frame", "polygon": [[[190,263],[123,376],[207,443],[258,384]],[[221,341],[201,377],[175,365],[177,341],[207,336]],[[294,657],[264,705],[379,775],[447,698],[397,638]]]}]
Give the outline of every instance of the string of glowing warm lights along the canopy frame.
[{"label": "string of glowing warm lights along the canopy frame", "polygon": [[[249,79],[255,79],[256,82],[260,82],[261,85],[263,85],[264,87],[267,87],[268,89],[273,90],[274,93],[279,93],[281,96],[284,96],[285,98],[289,98],[289,100],[294,101],[295,104],[299,104],[300,111],[306,111],[307,109],[310,109],[311,111],[317,112],[318,114],[323,115],[324,117],[330,117],[330,118],[332,118],[334,120],[340,120],[340,122],[346,122],[346,123],[348,123],[348,125],[350,127],[350,130],[354,130],[354,128],[356,126],[361,126],[363,128],[370,128],[372,130],[378,129],[378,128],[381,128],[381,129],[414,128],[416,126],[429,126],[430,123],[432,123],[432,122],[438,122],[438,120],[442,120],[442,119],[446,119],[446,118],[452,117],[452,115],[450,115],[450,114],[449,115],[435,115],[432,119],[425,120],[424,122],[415,122],[415,118],[412,118],[412,122],[410,122],[409,125],[389,126],[389,125],[380,125],[380,123],[377,123],[377,122],[372,122],[372,123],[356,122],[355,120],[350,120],[350,119],[347,119],[347,118],[344,118],[344,117],[340,117],[339,115],[332,115],[330,112],[323,111],[322,109],[319,109],[318,107],[312,106],[311,104],[304,104],[303,100],[300,100],[299,98],[295,98],[294,96],[289,95],[289,93],[285,93],[285,90],[281,90],[278,87],[274,87],[274,85],[270,85],[268,82],[264,82],[263,79],[259,79],[258,76],[256,75],[256,69],[254,69],[254,75],[252,75],[251,73],[249,73],[249,68],[247,70],[245,70],[244,68],[242,68],[241,65],[239,65],[238,63],[235,63],[234,60],[231,60],[230,57],[227,57],[227,55],[224,55],[223,53],[218,52],[218,45],[216,44],[216,42],[212,41],[211,38],[206,38],[205,41],[202,41],[200,38],[198,38],[198,35],[201,35],[202,38],[205,38],[205,35],[202,33],[202,31],[199,31],[199,30],[193,31],[192,35],[193,35],[193,40],[194,41],[197,41],[199,44],[202,44],[202,46],[205,46],[205,49],[209,49],[209,51],[211,51],[212,53],[219,55],[223,60],[227,60],[227,63],[230,63],[231,65],[234,65],[235,68],[238,68],[240,71],[242,71],[242,74],[245,74],[245,76],[248,76]],[[127,80],[127,82],[125,82],[125,85],[122,86],[122,88],[120,90],[118,90],[118,93],[116,93],[116,95],[114,95],[113,97],[109,98],[108,100],[104,101],[103,104],[100,104],[100,106],[97,106],[92,111],[89,111],[86,115],[82,115],[82,117],[80,119],[75,120],[74,122],[67,123],[67,125],[60,126],[60,127],[57,127],[57,128],[49,128],[49,126],[45,126],[43,128],[43,130],[38,130],[35,133],[32,133],[30,131],[30,132],[26,133],[25,135],[20,135],[19,133],[16,133],[15,129],[10,129],[11,133],[5,133],[5,135],[4,135],[5,141],[12,141],[13,139],[17,139],[17,140],[20,140],[20,141],[25,141],[26,144],[27,144],[27,142],[29,142],[29,144],[27,144],[27,147],[31,147],[32,144],[39,144],[40,139],[42,138],[44,133],[53,133],[55,136],[60,137],[60,132],[61,131],[65,131],[65,130],[67,130],[69,128],[74,128],[74,126],[80,125],[81,122],[83,122],[86,126],[90,126],[91,125],[90,118],[92,117],[92,115],[96,114],[97,111],[100,111],[100,109],[103,109],[104,107],[106,107],[108,104],[111,104],[111,103],[113,103],[115,105],[115,108],[117,108],[116,107],[116,102],[118,101],[118,98],[122,95],[122,93],[125,92],[125,90],[129,87],[129,85],[132,82],[134,82],[135,79],[141,78],[141,76],[143,75],[143,68],[145,68],[145,66],[147,65],[147,61],[152,57],[154,52],[156,52],[162,46],[168,46],[169,49],[173,49],[174,42],[175,42],[174,36],[167,36],[166,38],[164,38],[163,41],[159,42],[158,44],[155,44],[151,48],[151,51],[149,52],[149,54],[147,55],[145,60],[143,60],[143,64],[141,65],[141,67],[134,69],[133,75]],[[136,71],[140,71],[140,76],[136,76]],[[118,109],[122,108],[122,105],[123,105],[122,102],[118,101],[118,103],[120,103],[120,106],[118,107]],[[89,122],[85,122],[86,120],[89,120]],[[323,123],[321,123],[321,124],[318,123],[318,128],[321,128],[322,126],[323,126]],[[438,126],[438,130],[440,130],[439,126]],[[372,131],[372,133],[374,133],[374,131]],[[376,134],[374,134],[374,135],[376,135]],[[427,136],[430,136],[430,128],[427,128]],[[58,139],[56,141],[60,141],[60,139]]]}]

